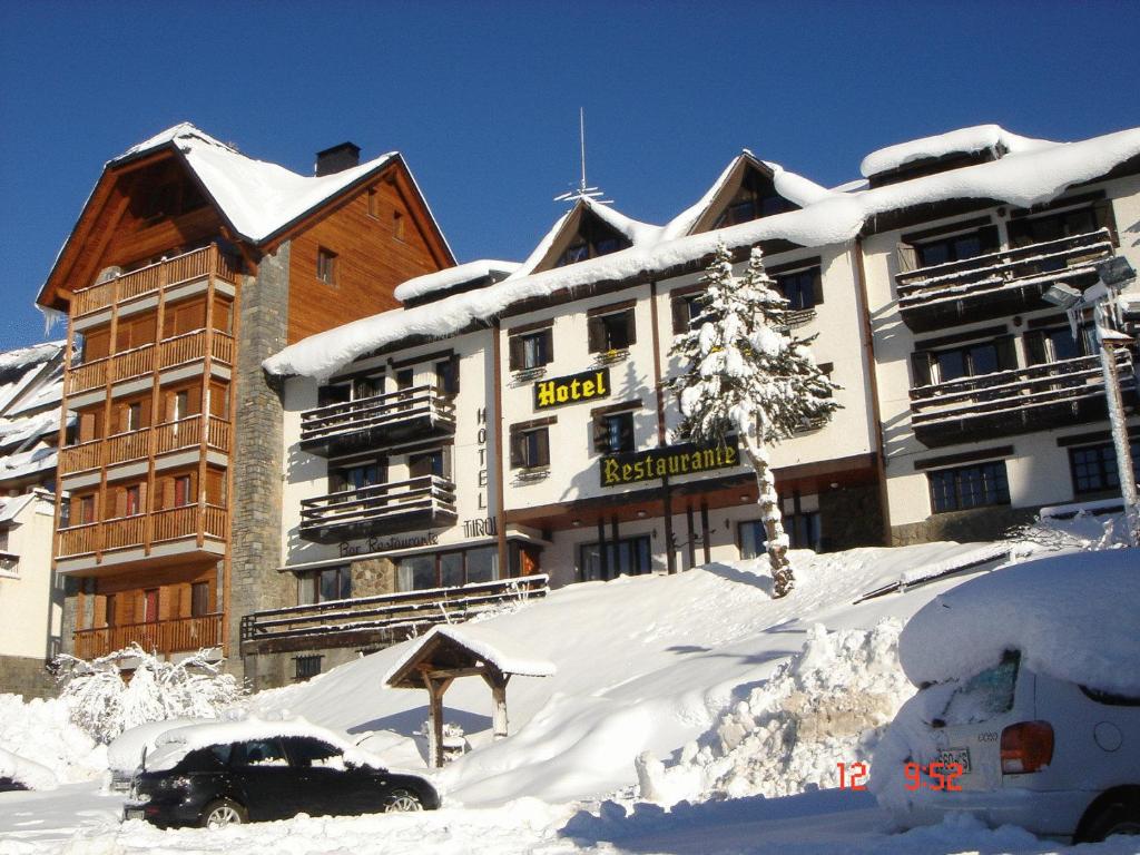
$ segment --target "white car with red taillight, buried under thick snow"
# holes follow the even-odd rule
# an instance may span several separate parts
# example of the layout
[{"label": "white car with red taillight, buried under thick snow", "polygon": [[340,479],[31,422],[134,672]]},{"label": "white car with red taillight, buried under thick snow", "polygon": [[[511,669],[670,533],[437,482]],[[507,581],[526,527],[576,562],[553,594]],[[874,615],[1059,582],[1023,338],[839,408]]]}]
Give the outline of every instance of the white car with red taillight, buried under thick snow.
[{"label": "white car with red taillight, buried under thick snow", "polygon": [[920,610],[899,658],[920,691],[874,754],[903,826],[966,812],[1101,840],[1140,833],[1140,551],[1026,562]]}]

